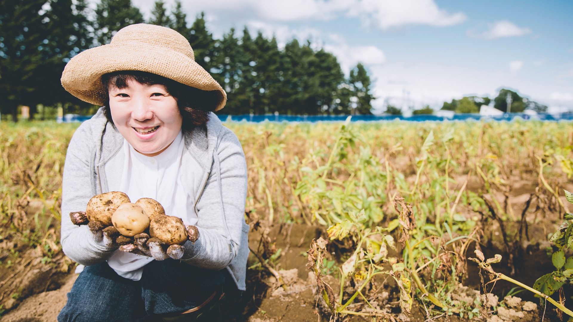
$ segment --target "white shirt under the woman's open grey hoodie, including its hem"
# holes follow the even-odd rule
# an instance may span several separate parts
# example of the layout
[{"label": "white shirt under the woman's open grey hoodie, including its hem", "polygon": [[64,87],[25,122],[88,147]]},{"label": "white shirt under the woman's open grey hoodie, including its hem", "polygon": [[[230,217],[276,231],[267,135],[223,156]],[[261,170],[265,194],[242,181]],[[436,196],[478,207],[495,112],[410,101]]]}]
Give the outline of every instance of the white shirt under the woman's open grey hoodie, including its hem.
[{"label": "white shirt under the woman's open grey hoodie, including its hem", "polygon": [[[124,139],[125,161],[119,191],[127,194],[131,202],[139,198],[155,199],[161,203],[165,214],[183,219],[185,225],[195,225],[197,215],[193,202],[183,190],[180,175],[184,145],[183,134],[179,131],[165,151],[151,157],[140,154]],[[139,281],[143,266],[152,260],[151,257],[116,250],[107,262],[119,276]]]}]

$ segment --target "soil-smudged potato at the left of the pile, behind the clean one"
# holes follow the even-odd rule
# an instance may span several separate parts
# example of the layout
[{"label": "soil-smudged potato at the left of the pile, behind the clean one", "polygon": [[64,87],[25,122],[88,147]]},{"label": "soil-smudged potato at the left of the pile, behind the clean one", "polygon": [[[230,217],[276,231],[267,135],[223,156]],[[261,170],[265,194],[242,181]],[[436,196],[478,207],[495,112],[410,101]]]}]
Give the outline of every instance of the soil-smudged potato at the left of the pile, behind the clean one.
[{"label": "soil-smudged potato at the left of the pile, behind the clean one", "polygon": [[123,203],[129,202],[129,197],[120,191],[99,194],[89,199],[85,214],[90,222],[101,222],[105,227],[111,226],[111,216]]}]

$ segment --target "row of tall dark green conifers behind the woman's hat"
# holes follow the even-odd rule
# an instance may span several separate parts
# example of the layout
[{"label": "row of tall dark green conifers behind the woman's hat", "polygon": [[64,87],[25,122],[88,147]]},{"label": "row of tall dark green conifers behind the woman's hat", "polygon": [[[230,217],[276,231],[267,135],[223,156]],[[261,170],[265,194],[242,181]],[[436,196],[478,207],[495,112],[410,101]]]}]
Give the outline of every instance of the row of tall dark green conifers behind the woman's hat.
[{"label": "row of tall dark green conifers behind the woman's hat", "polygon": [[30,117],[64,113],[89,115],[84,103],[60,84],[66,62],[85,49],[108,44],[121,28],[153,23],[189,40],[195,61],[227,92],[224,114],[295,115],[371,113],[370,76],[357,64],[344,76],[336,57],[296,38],[279,48],[276,38],[230,29],[216,39],[203,13],[189,26],[180,1],[167,8],[156,1],[146,21],[131,0],[0,0],[0,112],[17,120],[18,107]]}]

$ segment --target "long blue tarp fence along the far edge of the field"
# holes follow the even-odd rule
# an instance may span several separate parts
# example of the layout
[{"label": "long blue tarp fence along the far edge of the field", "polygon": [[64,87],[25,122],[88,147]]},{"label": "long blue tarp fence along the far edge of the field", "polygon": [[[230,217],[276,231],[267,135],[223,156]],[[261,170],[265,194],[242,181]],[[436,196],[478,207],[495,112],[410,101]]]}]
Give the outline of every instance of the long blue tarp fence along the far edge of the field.
[{"label": "long blue tarp fence along the far edge of the field", "polygon": [[[348,115],[282,115],[282,114],[271,114],[271,115],[217,115],[221,121],[247,121],[247,122],[332,122],[332,121],[344,121]],[[72,122],[83,122],[89,120],[92,116],[77,115],[77,114],[66,114],[58,122],[72,123]],[[432,114],[422,114],[422,115],[412,115],[412,116],[402,116],[402,115],[352,115],[351,121],[466,121],[466,120],[494,120],[494,121],[512,121],[515,119],[521,120],[543,120],[543,121],[560,121],[560,120],[573,120],[573,113],[559,113],[559,114],[547,114],[539,113],[537,115],[530,115],[525,113],[505,113],[500,116],[484,116],[478,113],[464,113],[464,114],[454,114],[452,117],[447,116],[437,116]]]}]

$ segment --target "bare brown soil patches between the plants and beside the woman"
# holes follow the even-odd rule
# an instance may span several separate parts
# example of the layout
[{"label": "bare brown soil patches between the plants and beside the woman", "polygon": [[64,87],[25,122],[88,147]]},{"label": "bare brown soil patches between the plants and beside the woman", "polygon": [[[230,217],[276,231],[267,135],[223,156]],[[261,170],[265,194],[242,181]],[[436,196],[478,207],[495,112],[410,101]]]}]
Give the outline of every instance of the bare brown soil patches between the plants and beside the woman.
[{"label": "bare brown soil patches between the plants and beside the woman", "polygon": [[[470,187],[473,189],[473,187]],[[570,188],[572,187],[566,187]],[[525,202],[529,195],[535,192],[535,186],[529,182],[524,182],[516,186],[509,201],[511,202],[513,213],[520,217]],[[491,198],[491,196],[486,196]],[[503,202],[503,196],[494,196]],[[507,245],[503,241],[501,227],[496,221],[491,221],[490,225],[484,229],[484,245],[481,246],[486,258],[493,257],[494,254],[501,254],[503,261],[494,266],[497,272],[512,276],[527,285],[533,285],[535,280],[543,274],[552,271],[551,257],[547,254],[551,249],[550,242],[547,241],[547,233],[555,231],[562,219],[556,213],[547,213],[544,217],[539,217],[539,211],[534,213],[535,202],[529,206],[529,211],[525,212],[528,230],[523,235],[521,242],[513,242]],[[462,215],[464,212],[462,211]],[[265,222],[259,221],[256,213],[250,213],[249,222],[252,230],[249,234],[249,246],[252,250],[260,253],[265,259],[280,250],[280,257],[275,262],[275,267],[286,282],[286,288],[279,286],[276,278],[266,269],[255,266],[248,270],[247,291],[242,296],[242,302],[230,309],[226,320],[229,321],[249,321],[249,322],[269,322],[269,321],[329,321],[330,314],[324,304],[324,300],[317,295],[316,280],[312,273],[306,268],[308,250],[312,239],[325,236],[325,229],[322,226],[307,226],[304,224],[275,223],[268,226]],[[472,215],[475,215],[473,213]],[[506,221],[508,223],[509,221]],[[504,227],[509,236],[509,240],[515,240],[519,231],[519,221],[507,224]],[[0,244],[2,241],[0,240]],[[5,245],[6,246],[6,245]],[[29,245],[9,245],[0,249],[14,248],[19,252],[19,256],[14,256],[14,263],[6,268],[3,265],[0,271],[0,304],[6,311],[3,313],[0,322],[39,322],[56,321],[58,312],[66,303],[66,293],[71,289],[77,274],[74,274],[74,264],[66,265],[66,258],[61,252],[55,254],[48,262],[42,262],[41,252],[31,248]],[[13,247],[12,247],[13,246]],[[333,253],[329,260],[341,265],[339,250],[344,245],[332,243]],[[473,257],[474,246],[470,246],[468,257]],[[571,256],[567,253],[566,256]],[[10,254],[0,254],[2,258],[9,258]],[[251,254],[249,266],[258,261]],[[481,280],[479,269],[473,262],[468,264],[468,278],[464,281],[464,288],[460,285],[455,292],[456,296],[466,296],[474,294],[472,290],[480,289]],[[340,285],[331,276],[326,276],[325,281],[332,286],[335,294],[340,292]],[[487,278],[486,278],[486,281]],[[399,291],[394,283],[383,280],[375,280],[372,287],[380,287],[379,294],[371,300],[372,305],[377,305],[379,309],[393,313],[397,321],[428,321],[426,307],[418,301],[414,301],[414,306],[409,315],[399,314],[401,312],[398,304]],[[493,315],[482,314],[477,319],[481,321],[541,321],[543,319],[556,321],[558,316],[556,310],[549,305],[545,311],[541,311],[539,299],[533,294],[524,291],[515,298],[504,300],[513,286],[509,282],[497,281],[486,286],[486,290],[491,292],[491,296],[497,296],[499,305],[497,312]],[[345,288],[349,287],[345,285]],[[573,290],[565,288],[565,297],[568,299],[573,295]],[[456,293],[457,294],[457,293]],[[338,296],[338,295],[336,295]],[[469,296],[469,295],[468,295]],[[489,299],[489,298],[488,298]],[[535,309],[530,308],[536,304]],[[368,313],[370,308],[363,304],[353,304],[352,311]],[[362,306],[360,306],[362,305]],[[492,311],[493,308],[490,308]],[[497,314],[497,315],[496,315]],[[342,321],[372,321],[371,317],[365,316],[341,316]],[[457,315],[441,316],[435,321],[469,321],[467,315],[460,318]],[[567,317],[565,317],[566,319]],[[381,321],[381,320],[380,320]]]}]

